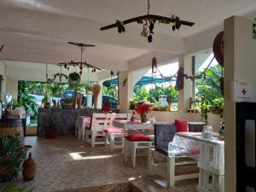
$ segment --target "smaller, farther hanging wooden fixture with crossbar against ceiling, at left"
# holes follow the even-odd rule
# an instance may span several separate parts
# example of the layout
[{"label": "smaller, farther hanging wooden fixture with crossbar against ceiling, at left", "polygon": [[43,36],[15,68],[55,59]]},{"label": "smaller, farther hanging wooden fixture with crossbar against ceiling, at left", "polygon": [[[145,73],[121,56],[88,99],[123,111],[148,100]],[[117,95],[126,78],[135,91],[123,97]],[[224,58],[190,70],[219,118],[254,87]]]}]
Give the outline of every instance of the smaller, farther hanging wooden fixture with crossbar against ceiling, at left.
[{"label": "smaller, farther hanging wooden fixture with crossbar against ceiling, at left", "polygon": [[78,46],[78,47],[81,48],[81,61],[60,62],[60,63],[58,63],[58,66],[61,66],[61,67],[64,66],[65,68],[67,68],[67,70],[69,70],[70,66],[79,67],[79,69],[80,69],[80,71],[79,71],[80,76],[83,73],[83,67],[87,67],[88,69],[92,68],[92,71],[91,71],[92,73],[95,73],[96,69],[97,70],[102,70],[99,67],[95,67],[95,66],[91,65],[90,63],[87,63],[86,61],[83,61],[83,52],[84,52],[85,48],[86,47],[95,47],[96,45],[94,45],[94,44],[76,43],[76,42],[67,42],[67,44],[73,44],[73,45]]}]

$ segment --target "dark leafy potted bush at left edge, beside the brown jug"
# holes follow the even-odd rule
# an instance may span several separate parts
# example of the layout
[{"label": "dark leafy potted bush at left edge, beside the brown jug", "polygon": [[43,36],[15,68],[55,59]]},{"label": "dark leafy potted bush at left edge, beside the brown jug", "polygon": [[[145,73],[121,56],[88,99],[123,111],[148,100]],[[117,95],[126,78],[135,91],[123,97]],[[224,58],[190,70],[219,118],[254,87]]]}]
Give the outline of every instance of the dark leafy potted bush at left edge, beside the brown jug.
[{"label": "dark leafy potted bush at left edge, beside the brown jug", "polygon": [[11,181],[18,175],[21,163],[26,159],[26,149],[18,136],[0,136],[0,181]]}]

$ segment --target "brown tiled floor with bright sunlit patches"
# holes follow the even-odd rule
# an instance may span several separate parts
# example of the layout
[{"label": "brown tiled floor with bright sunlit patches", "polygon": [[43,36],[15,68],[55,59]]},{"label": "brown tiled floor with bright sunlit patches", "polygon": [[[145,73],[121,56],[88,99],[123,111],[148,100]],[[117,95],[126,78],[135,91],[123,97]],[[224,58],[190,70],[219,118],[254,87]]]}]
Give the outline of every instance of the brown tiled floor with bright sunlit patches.
[{"label": "brown tiled floor with bright sunlit patches", "polygon": [[[32,157],[37,164],[37,175],[28,186],[38,192],[67,190],[126,183],[131,180],[145,191],[167,191],[166,183],[158,177],[148,177],[147,158],[138,157],[137,167],[125,165],[120,152],[109,153],[104,146],[89,148],[74,137],[26,137],[33,148]],[[21,179],[20,179],[21,180]],[[169,191],[196,191],[197,179],[177,183]]]}]

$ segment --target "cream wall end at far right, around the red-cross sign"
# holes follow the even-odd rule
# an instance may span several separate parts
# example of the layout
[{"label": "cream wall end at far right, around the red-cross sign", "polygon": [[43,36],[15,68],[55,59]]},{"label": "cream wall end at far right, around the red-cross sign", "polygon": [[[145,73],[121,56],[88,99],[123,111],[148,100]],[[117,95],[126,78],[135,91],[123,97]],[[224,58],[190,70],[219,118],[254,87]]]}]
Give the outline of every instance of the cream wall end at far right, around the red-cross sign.
[{"label": "cream wall end at far right, around the red-cross sign", "polygon": [[236,191],[236,106],[231,101],[230,83],[234,80],[253,84],[256,102],[256,40],[252,30],[255,20],[238,16],[224,20],[224,121],[225,136],[225,191]]}]

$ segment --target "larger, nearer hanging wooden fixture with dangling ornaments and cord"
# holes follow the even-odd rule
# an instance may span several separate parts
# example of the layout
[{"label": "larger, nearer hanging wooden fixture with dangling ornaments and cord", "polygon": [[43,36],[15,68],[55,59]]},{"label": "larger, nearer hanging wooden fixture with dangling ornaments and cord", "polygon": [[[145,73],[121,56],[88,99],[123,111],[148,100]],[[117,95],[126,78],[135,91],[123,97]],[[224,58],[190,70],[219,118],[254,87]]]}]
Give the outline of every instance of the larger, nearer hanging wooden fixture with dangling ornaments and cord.
[{"label": "larger, nearer hanging wooden fixture with dangling ornaments and cord", "polygon": [[151,43],[153,40],[152,35],[154,34],[154,24],[156,21],[159,21],[160,24],[171,24],[172,23],[172,31],[179,30],[179,28],[183,26],[194,26],[194,22],[190,22],[187,20],[180,20],[179,17],[172,15],[172,17],[166,17],[166,16],[160,16],[160,15],[150,15],[149,14],[149,9],[150,9],[150,2],[148,0],[148,14],[147,15],[142,15],[142,16],[137,16],[133,17],[128,20],[116,20],[115,23],[108,25],[108,26],[102,26],[101,30],[108,30],[114,27],[118,28],[118,32],[122,33],[125,32],[125,25],[133,22],[137,22],[138,24],[143,24],[143,32],[141,32],[141,35],[144,38],[148,37],[148,43]]}]

